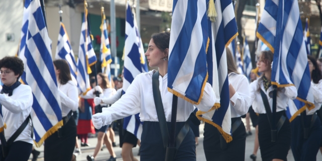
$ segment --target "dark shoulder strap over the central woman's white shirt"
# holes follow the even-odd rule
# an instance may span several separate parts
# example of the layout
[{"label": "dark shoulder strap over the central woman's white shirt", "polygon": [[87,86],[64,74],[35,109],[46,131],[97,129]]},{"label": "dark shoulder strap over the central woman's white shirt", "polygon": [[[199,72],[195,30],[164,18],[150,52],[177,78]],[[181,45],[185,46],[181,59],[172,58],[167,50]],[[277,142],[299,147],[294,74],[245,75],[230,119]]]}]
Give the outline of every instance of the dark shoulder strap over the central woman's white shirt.
[{"label": "dark shoulder strap over the central woman's white shirt", "polygon": [[156,109],[157,118],[160,125],[160,131],[162,135],[162,140],[164,147],[167,148],[169,143],[169,131],[166,121],[165,110],[162,104],[162,98],[159,90],[159,71],[155,71],[152,75],[152,90],[153,90],[153,99]]}]

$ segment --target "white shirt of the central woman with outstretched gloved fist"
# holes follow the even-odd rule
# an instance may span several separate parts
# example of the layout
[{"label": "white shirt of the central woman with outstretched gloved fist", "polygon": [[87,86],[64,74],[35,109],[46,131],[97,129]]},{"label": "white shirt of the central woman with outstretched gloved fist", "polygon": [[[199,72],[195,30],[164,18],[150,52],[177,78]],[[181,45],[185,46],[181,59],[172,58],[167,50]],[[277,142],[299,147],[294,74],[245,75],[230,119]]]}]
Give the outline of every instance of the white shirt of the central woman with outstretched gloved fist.
[{"label": "white shirt of the central woman with outstretched gloved fist", "polygon": [[[137,75],[126,90],[126,94],[103,112],[106,116],[107,124],[111,124],[114,120],[137,113],[140,113],[139,116],[141,121],[158,121],[152,92],[152,74],[153,70]],[[168,73],[164,77],[159,75],[159,90],[166,120],[167,122],[170,122],[173,94],[168,92]],[[195,106],[201,111],[208,111],[215,104],[215,100],[216,96],[211,85],[206,83],[201,102],[199,105]],[[191,103],[178,98],[176,121],[186,121],[194,109],[195,108]]]}]

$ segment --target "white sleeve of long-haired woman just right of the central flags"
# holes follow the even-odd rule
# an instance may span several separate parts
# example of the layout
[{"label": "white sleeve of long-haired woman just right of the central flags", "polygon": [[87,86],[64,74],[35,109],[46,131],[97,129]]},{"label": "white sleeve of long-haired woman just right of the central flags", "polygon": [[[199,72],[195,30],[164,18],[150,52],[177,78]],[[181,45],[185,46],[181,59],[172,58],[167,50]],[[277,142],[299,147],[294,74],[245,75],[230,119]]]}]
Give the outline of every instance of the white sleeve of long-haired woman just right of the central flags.
[{"label": "white sleeve of long-haired woman just right of the central flags", "polygon": [[250,90],[249,90],[249,83],[244,75],[238,75],[237,81],[233,82],[234,89],[236,93],[230,98],[230,101],[233,103],[233,108],[239,115],[247,114],[251,104],[251,97],[250,97]]}]

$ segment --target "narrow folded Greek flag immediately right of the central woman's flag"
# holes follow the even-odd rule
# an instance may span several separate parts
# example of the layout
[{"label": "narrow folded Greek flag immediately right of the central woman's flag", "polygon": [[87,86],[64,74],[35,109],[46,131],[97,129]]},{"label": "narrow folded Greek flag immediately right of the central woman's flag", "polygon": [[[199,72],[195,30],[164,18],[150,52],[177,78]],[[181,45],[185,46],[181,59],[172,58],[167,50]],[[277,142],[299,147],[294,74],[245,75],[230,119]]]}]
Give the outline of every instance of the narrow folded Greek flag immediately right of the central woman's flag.
[{"label": "narrow folded Greek flag immediately right of the central woman's flag", "polygon": [[227,75],[226,46],[238,35],[231,1],[216,0],[217,17],[208,20],[209,47],[207,50],[208,82],[216,94],[216,104],[208,112],[197,112],[197,117],[215,126],[227,142],[231,137],[229,84]]}]

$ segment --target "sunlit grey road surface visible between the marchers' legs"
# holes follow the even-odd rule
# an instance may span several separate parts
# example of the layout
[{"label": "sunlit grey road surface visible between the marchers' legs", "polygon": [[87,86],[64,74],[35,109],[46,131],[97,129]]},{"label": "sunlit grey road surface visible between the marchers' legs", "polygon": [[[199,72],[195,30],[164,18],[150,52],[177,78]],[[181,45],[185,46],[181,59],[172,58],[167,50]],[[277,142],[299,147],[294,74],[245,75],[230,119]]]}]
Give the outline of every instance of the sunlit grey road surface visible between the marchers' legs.
[{"label": "sunlit grey road surface visible between the marchers' legs", "polygon": [[[245,119],[243,119],[243,122],[244,124],[246,125],[246,121]],[[196,153],[197,153],[197,160],[206,160],[205,158],[205,153],[203,151],[203,127],[204,127],[204,124],[201,124],[199,126],[199,129],[200,129],[200,137],[198,138],[198,141],[199,141],[199,145],[197,146],[197,149],[196,149]],[[245,161],[252,161],[252,159],[250,158],[250,155],[253,153],[253,149],[254,149],[254,140],[255,140],[255,128],[252,127],[251,129],[252,131],[252,135],[248,136],[247,139],[246,139],[246,152],[245,152]],[[115,136],[115,140],[118,144],[118,140],[119,140],[119,137],[118,135]],[[78,140],[79,141],[79,140]],[[89,138],[88,139],[88,142],[91,146],[89,147],[81,147],[81,150],[82,150],[82,153],[77,155],[76,156],[76,160],[77,161],[87,161],[86,159],[86,156],[87,155],[93,155],[94,153],[94,148],[96,146],[96,143],[97,143],[97,138]],[[41,161],[41,160],[44,160],[43,156],[44,156],[44,147],[41,146],[39,148],[36,148],[37,150],[41,151],[39,157],[37,160]],[[114,147],[114,150],[115,150],[115,153],[117,155],[117,161],[122,161],[122,157],[121,157],[121,148],[119,146],[117,147]],[[138,150],[139,150],[139,147],[134,147],[133,148],[133,154],[134,154],[134,157],[137,158],[138,160],[140,160],[140,157],[137,155],[138,153]],[[31,160],[32,158],[32,155],[30,155],[30,159]],[[110,154],[107,150],[107,148],[104,148],[103,151],[100,151],[97,158],[96,158],[96,161],[105,161],[107,160],[108,158],[110,158]],[[262,160],[261,159],[261,153],[260,153],[260,149],[258,150],[257,152],[257,160]],[[287,160],[289,161],[293,161],[294,158],[293,158],[293,154],[292,154],[292,151],[289,150],[289,153],[287,155]],[[317,156],[316,156],[316,160],[322,160],[322,155],[320,152],[317,153]]]}]

